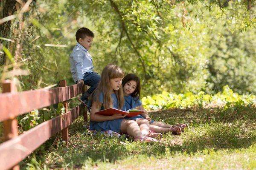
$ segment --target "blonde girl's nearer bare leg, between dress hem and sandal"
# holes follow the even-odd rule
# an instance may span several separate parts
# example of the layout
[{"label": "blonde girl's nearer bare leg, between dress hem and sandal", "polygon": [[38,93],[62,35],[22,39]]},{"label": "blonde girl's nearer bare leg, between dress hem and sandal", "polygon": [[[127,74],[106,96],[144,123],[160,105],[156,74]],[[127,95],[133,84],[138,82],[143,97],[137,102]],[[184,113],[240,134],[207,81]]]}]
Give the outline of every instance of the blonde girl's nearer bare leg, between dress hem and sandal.
[{"label": "blonde girl's nearer bare leg, between dress hem and sandal", "polygon": [[128,135],[135,136],[143,136],[141,133],[140,127],[135,120],[124,119],[121,123],[121,133],[128,133]]}]

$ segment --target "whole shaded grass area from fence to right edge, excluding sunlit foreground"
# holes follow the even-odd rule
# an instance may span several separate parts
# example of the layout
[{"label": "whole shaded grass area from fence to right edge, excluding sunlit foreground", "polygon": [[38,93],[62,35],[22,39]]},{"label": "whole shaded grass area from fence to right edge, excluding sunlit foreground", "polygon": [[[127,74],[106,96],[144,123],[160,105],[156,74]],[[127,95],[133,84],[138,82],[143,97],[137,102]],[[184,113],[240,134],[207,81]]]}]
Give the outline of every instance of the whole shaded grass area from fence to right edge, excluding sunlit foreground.
[{"label": "whole shaded grass area from fence to right edge, excluding sunlit foreground", "polygon": [[[116,163],[131,156],[165,157],[175,153],[196,153],[205,150],[248,148],[256,143],[256,108],[172,109],[151,112],[151,118],[172,125],[188,122],[190,128],[180,136],[163,134],[160,143],[136,143],[124,137],[103,134],[85,135],[84,123],[76,121],[70,126],[70,146],[58,143],[58,148],[48,155],[36,155],[47,167],[58,168],[72,163],[80,169],[86,164]],[[125,142],[126,144],[122,144]],[[62,146],[61,146],[62,145]],[[35,153],[36,154],[36,153]],[[57,156],[56,156],[57,155]],[[47,158],[46,158],[47,157]],[[23,163],[29,161],[26,159]]]}]

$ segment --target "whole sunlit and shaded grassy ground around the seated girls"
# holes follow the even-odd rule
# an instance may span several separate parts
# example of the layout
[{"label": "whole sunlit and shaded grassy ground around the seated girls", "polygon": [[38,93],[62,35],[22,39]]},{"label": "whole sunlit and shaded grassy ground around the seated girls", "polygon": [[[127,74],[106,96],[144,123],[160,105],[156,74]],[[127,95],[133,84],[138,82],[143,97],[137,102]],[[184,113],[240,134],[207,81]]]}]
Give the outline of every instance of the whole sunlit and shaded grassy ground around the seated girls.
[{"label": "whole sunlit and shaded grassy ground around the seated girls", "polygon": [[[81,120],[70,127],[70,147],[54,138],[20,163],[21,169],[256,169],[256,108],[190,108],[151,112],[172,125],[187,122],[180,136],[163,134],[160,143],[125,137],[86,135]],[[124,144],[125,143],[125,144]],[[46,150],[46,151],[45,151]]]}]

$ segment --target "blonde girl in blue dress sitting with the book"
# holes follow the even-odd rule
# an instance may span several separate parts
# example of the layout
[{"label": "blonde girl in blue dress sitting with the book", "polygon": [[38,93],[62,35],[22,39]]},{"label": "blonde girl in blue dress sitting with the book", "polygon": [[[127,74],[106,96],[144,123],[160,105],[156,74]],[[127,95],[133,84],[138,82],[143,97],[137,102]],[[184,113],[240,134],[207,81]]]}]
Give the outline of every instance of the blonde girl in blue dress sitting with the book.
[{"label": "blonde girl in blue dress sitting with the book", "polygon": [[96,112],[116,108],[125,111],[125,100],[122,90],[124,72],[116,65],[107,65],[101,74],[96,90],[90,95],[88,110],[90,111],[90,129],[113,130],[117,133],[128,133],[135,142],[155,142],[154,138],[143,134],[149,133],[149,122],[124,119],[126,115],[114,114],[104,116]]}]

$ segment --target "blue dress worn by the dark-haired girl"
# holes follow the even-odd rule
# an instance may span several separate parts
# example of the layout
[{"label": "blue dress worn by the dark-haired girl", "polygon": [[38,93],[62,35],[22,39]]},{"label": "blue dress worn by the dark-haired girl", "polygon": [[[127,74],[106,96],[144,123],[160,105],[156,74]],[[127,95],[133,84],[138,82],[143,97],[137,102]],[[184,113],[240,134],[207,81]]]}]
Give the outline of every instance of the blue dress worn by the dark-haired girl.
[{"label": "blue dress worn by the dark-haired girl", "polygon": [[[131,109],[131,108],[136,108],[140,105],[142,105],[142,102],[139,100],[136,101],[136,99],[138,99],[137,97],[132,97],[131,95],[129,96],[125,96],[125,108],[126,108],[126,111]],[[138,115],[138,116],[133,116],[133,117],[125,117],[125,119],[145,119],[143,116],[141,115]],[[154,120],[151,120],[150,123],[153,123],[155,122]]]}]

